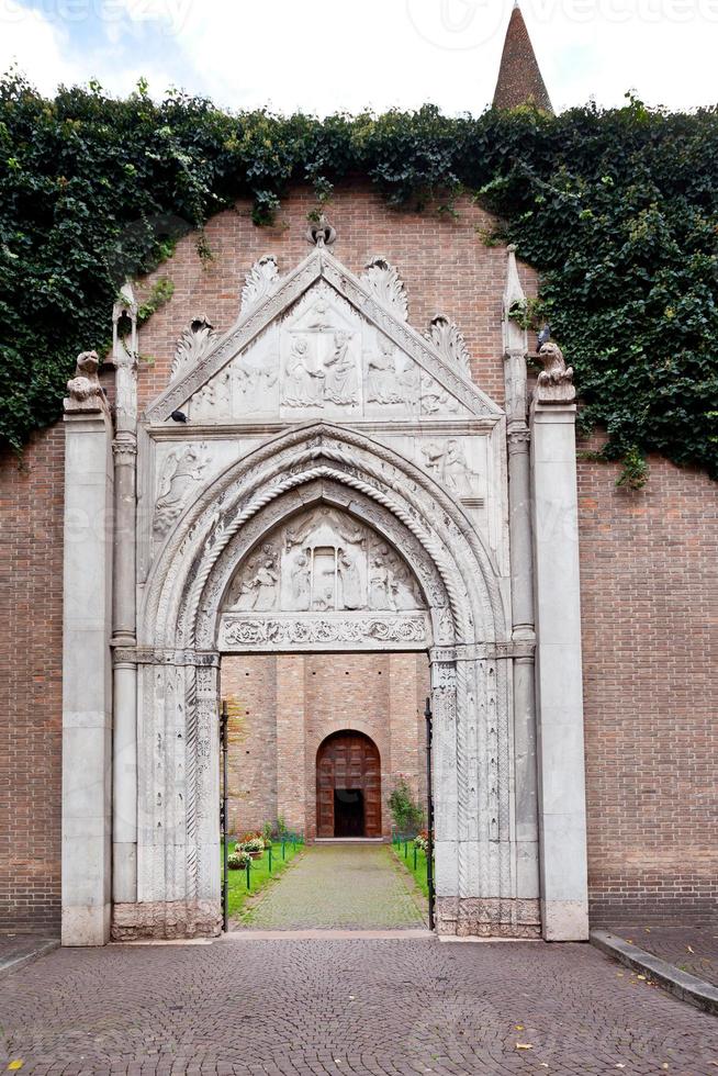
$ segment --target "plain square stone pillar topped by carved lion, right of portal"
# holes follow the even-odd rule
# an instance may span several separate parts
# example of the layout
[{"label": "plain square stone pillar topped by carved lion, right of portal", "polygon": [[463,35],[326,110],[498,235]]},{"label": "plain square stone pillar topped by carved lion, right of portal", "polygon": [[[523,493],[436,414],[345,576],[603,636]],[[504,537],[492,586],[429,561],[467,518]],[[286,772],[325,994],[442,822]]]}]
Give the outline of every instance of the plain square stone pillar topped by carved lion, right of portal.
[{"label": "plain square stone pillar topped by carved lion, right of portal", "polygon": [[541,919],[550,941],[588,937],[575,404],[545,345],[531,406],[537,602]]}]

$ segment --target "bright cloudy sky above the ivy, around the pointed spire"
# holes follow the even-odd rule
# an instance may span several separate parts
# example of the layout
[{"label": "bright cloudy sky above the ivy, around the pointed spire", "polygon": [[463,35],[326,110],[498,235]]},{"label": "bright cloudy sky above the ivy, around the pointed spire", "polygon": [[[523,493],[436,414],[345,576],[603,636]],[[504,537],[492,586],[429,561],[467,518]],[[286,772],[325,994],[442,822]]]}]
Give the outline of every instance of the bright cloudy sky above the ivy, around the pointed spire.
[{"label": "bright cloudy sky above the ivy, around the pointed spire", "polygon": [[[44,92],[145,77],[231,109],[481,112],[513,0],[0,0],[0,68]],[[718,0],[523,0],[557,110],[718,102]]]}]

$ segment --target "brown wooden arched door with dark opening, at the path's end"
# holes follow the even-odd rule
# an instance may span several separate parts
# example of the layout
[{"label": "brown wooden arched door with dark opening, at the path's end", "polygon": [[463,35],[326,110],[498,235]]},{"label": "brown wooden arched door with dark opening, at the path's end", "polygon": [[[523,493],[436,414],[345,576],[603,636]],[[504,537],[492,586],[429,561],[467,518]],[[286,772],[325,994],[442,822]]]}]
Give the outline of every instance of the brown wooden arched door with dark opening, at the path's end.
[{"label": "brown wooden arched door with dark opening, at the path's end", "polygon": [[363,732],[334,732],[316,753],[316,836],[381,837],[381,763]]}]

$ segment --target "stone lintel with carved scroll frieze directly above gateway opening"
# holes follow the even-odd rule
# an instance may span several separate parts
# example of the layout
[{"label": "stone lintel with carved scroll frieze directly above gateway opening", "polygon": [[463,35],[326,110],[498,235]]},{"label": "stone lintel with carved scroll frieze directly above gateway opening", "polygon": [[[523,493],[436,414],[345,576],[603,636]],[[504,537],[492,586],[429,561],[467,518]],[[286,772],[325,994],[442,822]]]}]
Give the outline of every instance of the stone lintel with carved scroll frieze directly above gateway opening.
[{"label": "stone lintel with carved scroll frieze directly above gateway opening", "polygon": [[276,650],[291,647],[294,650],[335,649],[338,645],[352,648],[425,649],[429,632],[426,616],[355,613],[351,616],[317,617],[240,617],[225,614],[220,629],[220,649],[223,652],[243,650]]}]

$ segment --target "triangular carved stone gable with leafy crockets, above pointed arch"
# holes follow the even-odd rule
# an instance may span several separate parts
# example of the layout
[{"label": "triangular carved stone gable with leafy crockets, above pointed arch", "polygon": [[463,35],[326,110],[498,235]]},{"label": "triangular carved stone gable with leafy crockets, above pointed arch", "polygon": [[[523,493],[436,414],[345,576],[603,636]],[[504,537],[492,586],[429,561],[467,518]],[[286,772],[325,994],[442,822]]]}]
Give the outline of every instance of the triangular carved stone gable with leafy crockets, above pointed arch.
[{"label": "triangular carved stone gable with leafy crockets, above pointed arch", "polygon": [[399,273],[382,259],[359,279],[324,246],[284,276],[268,256],[248,271],[227,333],[212,334],[203,318],[184,334],[147,418],[161,424],[177,410],[200,425],[498,417],[469,378],[458,328],[441,320],[423,334],[406,314]]}]

